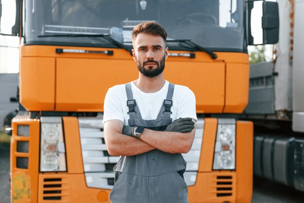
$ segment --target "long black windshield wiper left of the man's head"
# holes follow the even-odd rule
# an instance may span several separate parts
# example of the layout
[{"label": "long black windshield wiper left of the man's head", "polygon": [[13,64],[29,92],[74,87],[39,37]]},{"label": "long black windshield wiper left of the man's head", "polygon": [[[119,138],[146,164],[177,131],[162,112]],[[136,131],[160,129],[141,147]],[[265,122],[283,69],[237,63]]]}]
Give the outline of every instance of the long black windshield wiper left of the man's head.
[{"label": "long black windshield wiper left of the man's head", "polygon": [[108,42],[116,45],[118,48],[122,48],[132,53],[130,49],[128,49],[125,45],[120,43],[119,41],[110,37],[109,34],[56,34],[56,35],[38,35],[37,37],[102,37]]}]

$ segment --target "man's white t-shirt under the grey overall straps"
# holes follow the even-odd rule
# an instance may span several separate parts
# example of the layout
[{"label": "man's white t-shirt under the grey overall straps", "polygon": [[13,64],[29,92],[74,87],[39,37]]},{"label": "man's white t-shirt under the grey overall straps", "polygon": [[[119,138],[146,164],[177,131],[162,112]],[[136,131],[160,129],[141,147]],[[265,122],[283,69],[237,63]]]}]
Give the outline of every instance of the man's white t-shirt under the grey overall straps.
[{"label": "man's white t-shirt under the grey overall straps", "polygon": [[[159,113],[164,99],[167,97],[169,82],[166,80],[165,85],[157,92],[142,92],[134,82],[131,82],[133,99],[136,100],[142,119],[155,120]],[[104,99],[103,123],[109,120],[121,120],[124,125],[128,126],[130,118],[127,107],[127,93],[125,85],[116,85],[108,90]],[[187,87],[175,85],[171,107],[172,121],[178,118],[190,117],[197,121],[195,109],[195,95]]]}]

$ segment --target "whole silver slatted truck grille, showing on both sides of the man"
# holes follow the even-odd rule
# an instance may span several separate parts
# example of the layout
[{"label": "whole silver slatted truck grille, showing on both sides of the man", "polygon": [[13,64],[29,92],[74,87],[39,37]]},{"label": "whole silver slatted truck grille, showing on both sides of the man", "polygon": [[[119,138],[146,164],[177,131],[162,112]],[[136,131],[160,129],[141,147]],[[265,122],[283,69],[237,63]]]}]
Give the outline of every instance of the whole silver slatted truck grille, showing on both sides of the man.
[{"label": "whole silver slatted truck grille, showing on both sides of the man", "polygon": [[[102,117],[79,118],[79,132],[81,138],[84,174],[88,187],[112,189],[114,185],[113,167],[117,164],[119,156],[110,156],[103,135]],[[204,120],[196,123],[195,138],[191,150],[183,154],[187,162],[184,174],[186,184],[195,185],[199,167]]]}]

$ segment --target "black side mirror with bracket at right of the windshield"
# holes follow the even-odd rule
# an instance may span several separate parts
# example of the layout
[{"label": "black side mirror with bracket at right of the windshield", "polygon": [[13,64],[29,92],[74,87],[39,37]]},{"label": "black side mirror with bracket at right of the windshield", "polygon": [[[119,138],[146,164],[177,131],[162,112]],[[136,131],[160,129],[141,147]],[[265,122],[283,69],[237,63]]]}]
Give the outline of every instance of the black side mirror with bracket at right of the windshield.
[{"label": "black side mirror with bracket at right of the windshield", "polygon": [[[252,16],[252,10],[254,10],[255,16]],[[248,45],[274,44],[279,41],[279,6],[277,2],[249,0],[247,19]]]}]

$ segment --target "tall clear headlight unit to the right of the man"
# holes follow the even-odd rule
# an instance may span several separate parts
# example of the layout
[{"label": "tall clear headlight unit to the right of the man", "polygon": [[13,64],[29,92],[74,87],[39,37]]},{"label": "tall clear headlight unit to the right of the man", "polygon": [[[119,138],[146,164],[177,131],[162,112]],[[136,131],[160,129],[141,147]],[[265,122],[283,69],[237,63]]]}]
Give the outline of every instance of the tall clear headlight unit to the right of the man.
[{"label": "tall clear headlight unit to the right of the man", "polygon": [[219,119],[213,169],[236,169],[236,121]]}]

